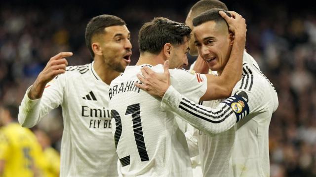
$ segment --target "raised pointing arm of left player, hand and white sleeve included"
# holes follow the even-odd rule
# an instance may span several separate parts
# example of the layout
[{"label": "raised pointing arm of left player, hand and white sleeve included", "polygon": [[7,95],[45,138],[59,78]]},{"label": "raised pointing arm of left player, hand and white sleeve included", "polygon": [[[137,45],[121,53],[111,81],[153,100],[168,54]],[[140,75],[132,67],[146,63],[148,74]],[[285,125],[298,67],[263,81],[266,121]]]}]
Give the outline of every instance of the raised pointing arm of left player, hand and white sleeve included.
[{"label": "raised pointing arm of left player, hand and white sleeve included", "polygon": [[[33,127],[41,118],[61,104],[63,81],[60,77],[57,79],[56,76],[66,72],[68,62],[65,57],[72,55],[71,52],[62,52],[52,57],[40,72],[34,84],[27,89],[19,107],[18,115],[19,123],[23,127]],[[47,84],[50,81],[52,81],[51,84]],[[46,89],[45,92],[44,89]]]}]

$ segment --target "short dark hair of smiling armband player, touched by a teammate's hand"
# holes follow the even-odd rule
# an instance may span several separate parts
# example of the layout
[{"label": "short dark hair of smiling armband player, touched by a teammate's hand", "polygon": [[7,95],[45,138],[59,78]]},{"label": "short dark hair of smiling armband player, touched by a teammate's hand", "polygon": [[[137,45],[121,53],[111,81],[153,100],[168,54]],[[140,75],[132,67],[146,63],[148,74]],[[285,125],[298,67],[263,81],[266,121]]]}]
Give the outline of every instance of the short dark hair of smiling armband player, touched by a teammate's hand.
[{"label": "short dark hair of smiling armband player, touched by a teammate's hand", "polygon": [[[227,24],[226,20],[218,13],[219,11],[224,11],[229,17],[232,16],[229,12],[223,9],[215,8],[215,9],[207,10],[199,14],[196,18],[193,19],[192,21],[193,26],[197,27],[208,21],[215,21],[215,23],[223,22]],[[228,27],[228,24],[227,24],[227,27]]]}]

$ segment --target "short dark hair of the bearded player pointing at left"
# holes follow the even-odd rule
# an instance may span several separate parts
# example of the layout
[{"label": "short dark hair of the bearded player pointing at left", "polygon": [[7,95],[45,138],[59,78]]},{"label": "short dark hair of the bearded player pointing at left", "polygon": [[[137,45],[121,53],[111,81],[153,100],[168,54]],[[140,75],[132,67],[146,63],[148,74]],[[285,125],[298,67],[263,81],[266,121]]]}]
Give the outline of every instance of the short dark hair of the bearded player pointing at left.
[{"label": "short dark hair of the bearded player pointing at left", "polygon": [[90,51],[90,54],[92,58],[94,58],[94,53],[91,47],[91,40],[94,35],[104,33],[104,29],[106,27],[112,27],[112,26],[123,26],[126,25],[124,20],[118,18],[114,15],[99,15],[96,17],[93,17],[87,27],[85,28],[85,45]]}]

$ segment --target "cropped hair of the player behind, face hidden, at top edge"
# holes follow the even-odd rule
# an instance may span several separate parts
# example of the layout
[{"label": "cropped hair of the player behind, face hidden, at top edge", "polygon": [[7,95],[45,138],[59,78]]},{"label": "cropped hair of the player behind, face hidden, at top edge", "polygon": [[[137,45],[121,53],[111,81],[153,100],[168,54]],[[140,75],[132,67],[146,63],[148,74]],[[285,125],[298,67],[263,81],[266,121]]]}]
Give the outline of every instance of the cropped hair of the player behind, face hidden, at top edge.
[{"label": "cropped hair of the player behind, face hidden, at top edge", "polygon": [[194,18],[197,15],[213,8],[219,8],[228,11],[226,4],[220,0],[200,0],[191,7],[191,16]]}]

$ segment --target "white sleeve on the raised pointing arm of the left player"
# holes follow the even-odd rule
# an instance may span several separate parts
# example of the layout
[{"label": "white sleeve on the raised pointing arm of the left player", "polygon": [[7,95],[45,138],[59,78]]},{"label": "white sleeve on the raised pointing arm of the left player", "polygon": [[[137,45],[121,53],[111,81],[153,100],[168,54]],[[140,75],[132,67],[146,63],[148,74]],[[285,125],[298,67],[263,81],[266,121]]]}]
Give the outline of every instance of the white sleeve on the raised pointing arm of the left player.
[{"label": "white sleeve on the raised pointing arm of the left player", "polygon": [[33,127],[52,109],[63,102],[65,75],[60,74],[46,84],[40,99],[31,100],[28,96],[29,87],[19,107],[18,120],[23,127]]}]

